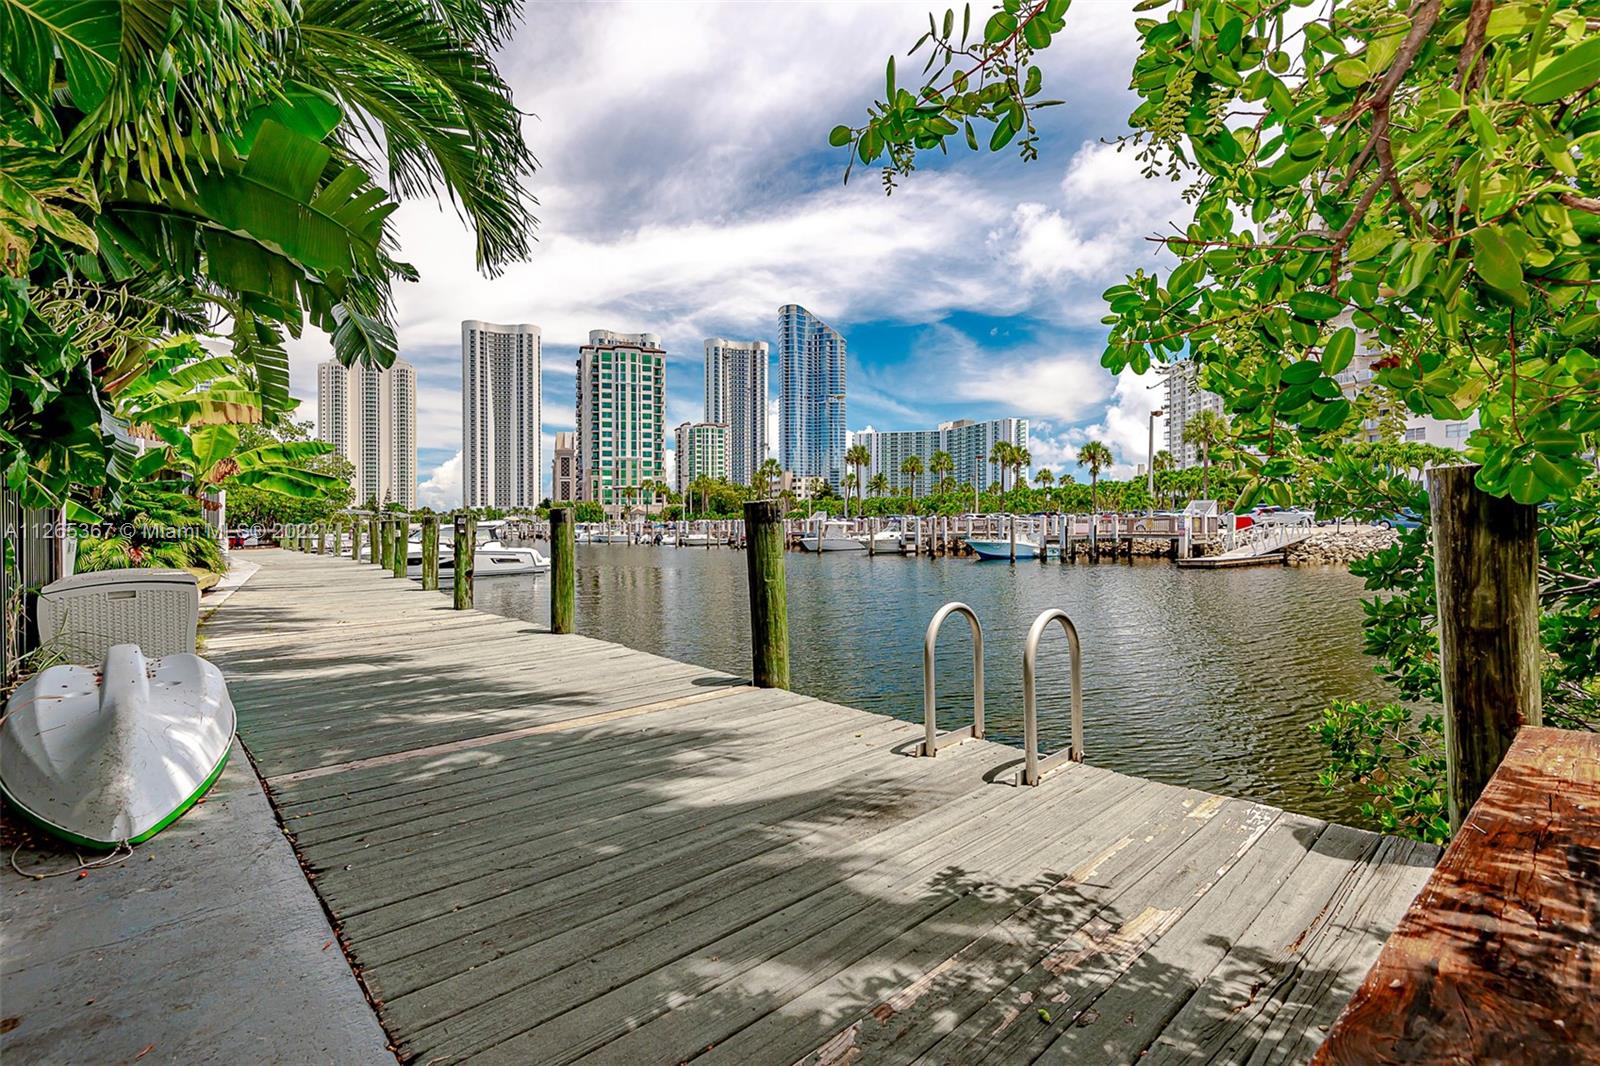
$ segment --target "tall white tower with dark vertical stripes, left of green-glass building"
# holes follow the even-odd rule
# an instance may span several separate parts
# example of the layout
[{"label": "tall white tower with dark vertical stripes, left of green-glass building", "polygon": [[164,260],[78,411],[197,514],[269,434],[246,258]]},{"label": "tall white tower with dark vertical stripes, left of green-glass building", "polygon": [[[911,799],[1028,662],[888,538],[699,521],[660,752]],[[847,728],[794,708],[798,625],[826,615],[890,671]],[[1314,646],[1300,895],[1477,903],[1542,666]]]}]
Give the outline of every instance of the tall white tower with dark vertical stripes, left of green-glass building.
[{"label": "tall white tower with dark vertical stripes, left of green-glass building", "polygon": [[539,327],[462,322],[462,503],[536,507],[541,472]]}]

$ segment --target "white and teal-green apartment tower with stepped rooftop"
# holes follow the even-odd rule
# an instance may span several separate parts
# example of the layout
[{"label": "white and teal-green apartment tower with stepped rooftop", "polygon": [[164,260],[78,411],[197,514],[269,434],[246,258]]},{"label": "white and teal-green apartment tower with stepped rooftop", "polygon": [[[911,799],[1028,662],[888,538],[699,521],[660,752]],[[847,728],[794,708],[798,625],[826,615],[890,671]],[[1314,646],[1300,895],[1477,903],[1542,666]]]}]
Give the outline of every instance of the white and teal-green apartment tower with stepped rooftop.
[{"label": "white and teal-green apartment tower with stepped rooftop", "polygon": [[590,330],[578,349],[578,498],[611,514],[667,472],[667,354],[654,333]]}]

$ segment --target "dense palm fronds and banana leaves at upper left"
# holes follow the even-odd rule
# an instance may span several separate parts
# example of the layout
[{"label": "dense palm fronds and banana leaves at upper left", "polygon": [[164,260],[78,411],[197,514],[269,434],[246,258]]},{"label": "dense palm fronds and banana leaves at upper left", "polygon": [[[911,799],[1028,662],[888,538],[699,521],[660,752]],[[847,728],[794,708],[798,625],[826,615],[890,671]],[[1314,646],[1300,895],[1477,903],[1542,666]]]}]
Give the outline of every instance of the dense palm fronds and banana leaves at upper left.
[{"label": "dense palm fronds and banana leaves at upper left", "polygon": [[232,461],[230,477],[274,491],[325,488],[293,474],[307,448],[245,447],[234,426],[286,416],[283,343],[307,323],[346,362],[394,359],[390,285],[414,277],[392,256],[397,195],[448,192],[486,271],[526,251],[520,179],[533,160],[488,58],[515,11],[512,0],[0,5],[6,485],[30,506],[104,496],[96,506],[117,511],[117,491],[155,471],[130,471],[131,450],[106,427],[158,370],[163,341],[189,333],[214,336],[229,362],[190,360],[186,386],[218,383],[237,408],[182,421],[142,411],[163,472],[205,477]]}]

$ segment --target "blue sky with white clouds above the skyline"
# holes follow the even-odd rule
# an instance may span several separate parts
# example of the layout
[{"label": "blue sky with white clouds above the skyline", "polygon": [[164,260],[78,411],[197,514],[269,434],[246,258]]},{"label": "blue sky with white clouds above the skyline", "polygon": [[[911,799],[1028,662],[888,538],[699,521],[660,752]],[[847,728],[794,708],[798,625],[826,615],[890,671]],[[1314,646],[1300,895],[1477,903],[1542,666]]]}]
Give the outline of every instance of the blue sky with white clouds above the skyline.
[{"label": "blue sky with white clouds above the skyline", "polygon": [[[542,328],[544,466],[550,435],[573,424],[573,360],[589,330],[662,336],[670,426],[701,415],[704,338],[771,343],[784,303],[848,339],[851,429],[1022,415],[1035,466],[1072,469],[1090,437],[1125,472],[1142,463],[1160,391],[1099,367],[1099,293],[1158,264],[1146,237],[1187,211],[1176,186],[1144,181],[1131,150],[1106,142],[1131,110],[1131,5],[1069,13],[1042,64],[1045,94],[1067,102],[1040,112],[1038,162],[962,149],[931,157],[893,197],[870,170],[845,186],[827,131],[859,120],[885,58],[904,54],[926,11],[530,3],[499,61],[541,162],[533,256],[483,279],[448,206],[419,200],[395,214],[402,258],[422,275],[397,293],[402,354],[419,378],[422,501],[459,501],[462,319]],[[902,58],[902,80],[918,67]],[[312,331],[293,349],[307,413],[326,357]],[[773,387],[776,400],[776,373]]]}]

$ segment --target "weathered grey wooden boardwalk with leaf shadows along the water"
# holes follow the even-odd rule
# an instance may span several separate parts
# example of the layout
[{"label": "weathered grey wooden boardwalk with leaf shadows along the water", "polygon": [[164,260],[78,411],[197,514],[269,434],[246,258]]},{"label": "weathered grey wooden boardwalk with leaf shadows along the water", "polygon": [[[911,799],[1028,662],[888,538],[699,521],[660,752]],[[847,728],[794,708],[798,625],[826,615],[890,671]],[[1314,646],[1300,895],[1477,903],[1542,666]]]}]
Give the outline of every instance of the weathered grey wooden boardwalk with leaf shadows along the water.
[{"label": "weathered grey wooden boardwalk with leaf shadows along the water", "polygon": [[1304,1061],[1437,858],[251,559],[203,653],[406,1061]]}]

